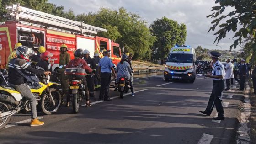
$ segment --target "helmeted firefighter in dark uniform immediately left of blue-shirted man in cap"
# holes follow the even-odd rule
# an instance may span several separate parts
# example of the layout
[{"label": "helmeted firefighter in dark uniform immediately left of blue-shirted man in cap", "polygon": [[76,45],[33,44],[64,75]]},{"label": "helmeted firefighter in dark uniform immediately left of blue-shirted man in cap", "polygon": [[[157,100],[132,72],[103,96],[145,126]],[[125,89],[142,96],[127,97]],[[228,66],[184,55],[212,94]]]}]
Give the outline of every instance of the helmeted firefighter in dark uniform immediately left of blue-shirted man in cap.
[{"label": "helmeted firefighter in dark uniform immediately left of blue-shirted man in cap", "polygon": [[101,79],[99,79],[97,75],[99,74],[99,61],[101,60],[101,58],[100,58],[100,52],[98,50],[94,52],[94,56],[92,60],[94,61],[96,66],[95,67],[96,72],[94,76],[94,87],[95,87],[95,91],[99,91],[99,89],[101,88]]}]

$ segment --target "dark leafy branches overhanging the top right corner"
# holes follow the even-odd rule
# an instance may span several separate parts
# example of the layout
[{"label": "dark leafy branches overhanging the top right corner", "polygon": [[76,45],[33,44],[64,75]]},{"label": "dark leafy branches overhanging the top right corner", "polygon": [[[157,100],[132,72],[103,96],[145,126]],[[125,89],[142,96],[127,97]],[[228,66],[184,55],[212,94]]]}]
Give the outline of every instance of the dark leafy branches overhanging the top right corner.
[{"label": "dark leafy branches overhanging the top right corner", "polygon": [[[212,14],[207,17],[214,18],[212,21],[213,27],[209,29],[208,32],[214,31],[217,26],[219,30],[214,34],[216,39],[214,43],[226,37],[226,33],[229,31],[236,32],[234,38],[234,44],[230,46],[236,48],[237,45],[242,43],[242,38],[251,35],[253,41],[256,41],[256,0],[215,0],[218,6],[212,7]],[[228,8],[235,8],[234,11],[224,14],[224,11]],[[224,23],[222,21],[226,20]],[[220,24],[221,23],[221,24]],[[242,25],[242,28],[238,29],[238,24]],[[254,50],[256,50],[256,45],[253,45]]]}]

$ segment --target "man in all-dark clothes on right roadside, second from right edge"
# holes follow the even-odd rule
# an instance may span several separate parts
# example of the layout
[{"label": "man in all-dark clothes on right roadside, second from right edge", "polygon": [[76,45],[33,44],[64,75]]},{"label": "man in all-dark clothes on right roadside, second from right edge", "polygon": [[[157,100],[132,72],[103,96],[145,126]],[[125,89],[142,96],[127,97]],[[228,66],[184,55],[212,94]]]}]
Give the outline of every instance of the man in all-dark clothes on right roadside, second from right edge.
[{"label": "man in all-dark clothes on right roadside, second from right edge", "polygon": [[245,77],[247,73],[247,68],[245,64],[245,60],[241,60],[241,64],[239,66],[239,80],[240,80],[240,88],[238,90],[244,91],[245,89]]}]

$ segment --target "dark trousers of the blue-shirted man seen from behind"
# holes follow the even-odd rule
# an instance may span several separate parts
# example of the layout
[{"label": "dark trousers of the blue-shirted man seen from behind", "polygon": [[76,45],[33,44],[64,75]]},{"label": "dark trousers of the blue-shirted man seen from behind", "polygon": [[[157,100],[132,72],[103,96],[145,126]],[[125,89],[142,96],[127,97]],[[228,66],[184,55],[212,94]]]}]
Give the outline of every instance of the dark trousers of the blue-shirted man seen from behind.
[{"label": "dark trousers of the blue-shirted man seen from behind", "polygon": [[100,99],[104,97],[104,99],[109,98],[109,85],[111,80],[111,73],[102,73],[101,72],[101,89],[100,89]]}]

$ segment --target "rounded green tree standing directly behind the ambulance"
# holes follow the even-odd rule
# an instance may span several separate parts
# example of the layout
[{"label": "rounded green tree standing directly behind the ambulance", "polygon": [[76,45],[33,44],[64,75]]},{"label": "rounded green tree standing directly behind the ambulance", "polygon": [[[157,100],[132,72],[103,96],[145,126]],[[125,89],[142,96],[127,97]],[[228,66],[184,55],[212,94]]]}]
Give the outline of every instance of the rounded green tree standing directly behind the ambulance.
[{"label": "rounded green tree standing directly behind the ambulance", "polygon": [[156,52],[153,59],[167,57],[171,47],[184,44],[187,37],[185,24],[178,24],[177,21],[166,17],[153,21],[150,31],[157,37],[152,47],[152,51]]}]

